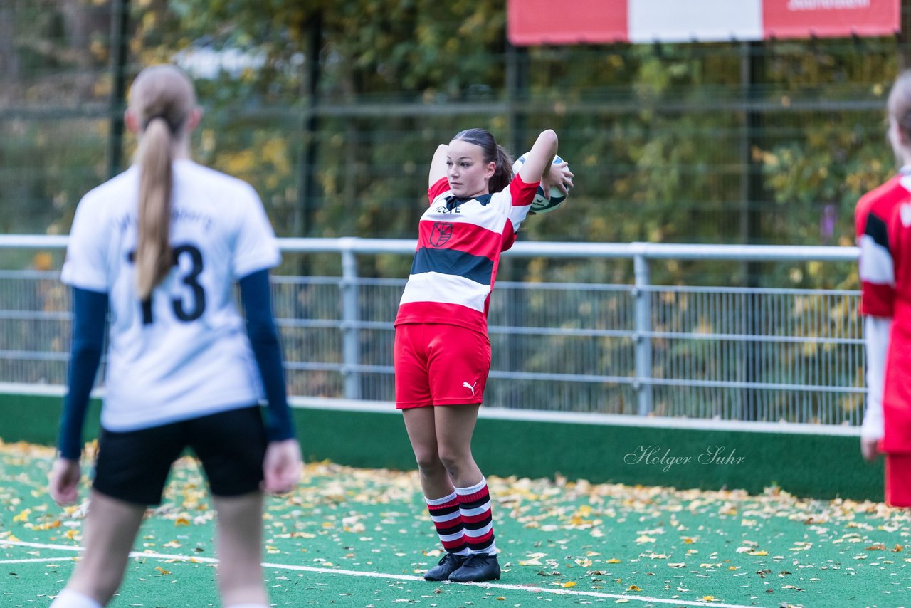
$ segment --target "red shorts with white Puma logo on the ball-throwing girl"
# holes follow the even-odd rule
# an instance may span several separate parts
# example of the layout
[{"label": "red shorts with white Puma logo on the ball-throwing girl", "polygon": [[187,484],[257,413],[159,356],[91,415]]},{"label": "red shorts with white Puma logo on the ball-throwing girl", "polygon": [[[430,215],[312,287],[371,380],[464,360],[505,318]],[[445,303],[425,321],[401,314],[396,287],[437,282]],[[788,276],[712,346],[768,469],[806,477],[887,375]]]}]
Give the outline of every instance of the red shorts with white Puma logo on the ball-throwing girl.
[{"label": "red shorts with white Puma logo on the ball-throwing girl", "polygon": [[490,371],[484,334],[442,323],[395,327],[395,407],[480,404]]}]

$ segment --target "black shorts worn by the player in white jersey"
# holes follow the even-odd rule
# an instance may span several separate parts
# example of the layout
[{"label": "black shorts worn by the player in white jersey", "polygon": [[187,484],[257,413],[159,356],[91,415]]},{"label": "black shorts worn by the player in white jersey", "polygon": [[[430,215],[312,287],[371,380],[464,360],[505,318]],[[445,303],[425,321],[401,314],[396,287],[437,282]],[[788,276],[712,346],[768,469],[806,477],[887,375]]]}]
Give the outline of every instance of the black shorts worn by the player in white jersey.
[{"label": "black shorts worn by the player in white jersey", "polygon": [[191,448],[214,496],[241,496],[260,489],[266,444],[258,406],[122,433],[102,428],[92,487],[118,500],[158,505],[171,465]]}]

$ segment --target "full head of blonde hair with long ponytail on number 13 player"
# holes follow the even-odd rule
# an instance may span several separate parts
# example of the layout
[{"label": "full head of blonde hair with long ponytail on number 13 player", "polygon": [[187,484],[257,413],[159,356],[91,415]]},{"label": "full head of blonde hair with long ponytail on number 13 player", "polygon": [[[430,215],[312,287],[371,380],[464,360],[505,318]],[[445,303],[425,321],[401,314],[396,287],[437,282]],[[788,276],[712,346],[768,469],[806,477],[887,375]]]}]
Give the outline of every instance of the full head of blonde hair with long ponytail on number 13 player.
[{"label": "full head of blonde hair with long ponytail on number 13 player", "polygon": [[172,163],[189,113],[196,105],[193,85],[174,66],[147,67],[130,91],[129,107],[141,127],[138,149],[139,209],[136,289],[147,300],[174,265],[170,248]]}]

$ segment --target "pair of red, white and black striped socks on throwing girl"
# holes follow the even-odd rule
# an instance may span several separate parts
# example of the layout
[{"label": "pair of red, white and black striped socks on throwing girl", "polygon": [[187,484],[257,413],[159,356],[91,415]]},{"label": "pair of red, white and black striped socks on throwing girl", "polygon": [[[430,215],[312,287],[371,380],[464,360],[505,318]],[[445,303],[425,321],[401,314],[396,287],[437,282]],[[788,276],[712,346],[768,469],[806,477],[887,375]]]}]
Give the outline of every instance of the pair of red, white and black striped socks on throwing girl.
[{"label": "pair of red, white and black striped socks on throwing girl", "polygon": [[457,555],[496,555],[494,522],[486,479],[470,488],[455,488],[441,499],[428,499],[427,510],[434,520],[443,548]]}]

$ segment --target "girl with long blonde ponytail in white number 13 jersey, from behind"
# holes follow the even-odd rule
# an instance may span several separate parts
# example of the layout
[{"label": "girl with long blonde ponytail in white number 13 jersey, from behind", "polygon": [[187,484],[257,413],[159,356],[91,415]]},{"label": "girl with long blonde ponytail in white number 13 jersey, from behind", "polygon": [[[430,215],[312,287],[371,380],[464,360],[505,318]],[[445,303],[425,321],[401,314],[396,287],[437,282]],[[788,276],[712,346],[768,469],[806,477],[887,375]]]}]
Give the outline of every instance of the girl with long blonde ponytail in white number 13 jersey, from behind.
[{"label": "girl with long blonde ponytail in white number 13 jersey, from behind", "polygon": [[72,287],[73,341],[49,488],[61,504],[78,498],[106,333],[107,372],[85,552],[54,608],[107,605],[185,448],[200,459],[218,515],[222,605],[269,605],[263,492],[291,490],[301,470],[271,314],[269,269],[281,256],[251,186],[190,160],[200,118],[179,68],[142,70],[125,113],[136,162],[77,206],[61,273]]}]

